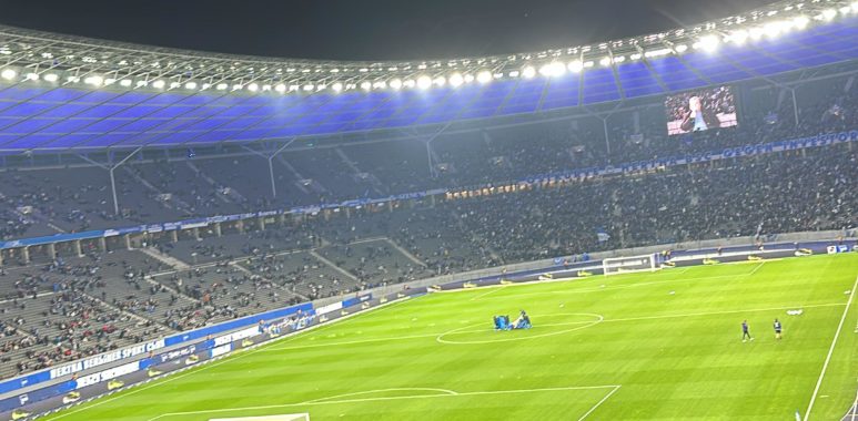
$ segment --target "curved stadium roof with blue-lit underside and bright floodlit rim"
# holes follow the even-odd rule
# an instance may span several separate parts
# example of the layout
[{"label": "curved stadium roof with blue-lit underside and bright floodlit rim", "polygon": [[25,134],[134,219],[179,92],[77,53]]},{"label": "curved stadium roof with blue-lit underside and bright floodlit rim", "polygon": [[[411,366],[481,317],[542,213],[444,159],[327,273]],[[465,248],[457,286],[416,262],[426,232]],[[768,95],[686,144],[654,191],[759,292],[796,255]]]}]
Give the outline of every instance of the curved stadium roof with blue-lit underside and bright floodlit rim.
[{"label": "curved stadium roof with blue-lit underside and bright floodlit rim", "polygon": [[858,58],[858,2],[426,62],[236,57],[0,28],[0,151],[255,142],[532,113]]}]

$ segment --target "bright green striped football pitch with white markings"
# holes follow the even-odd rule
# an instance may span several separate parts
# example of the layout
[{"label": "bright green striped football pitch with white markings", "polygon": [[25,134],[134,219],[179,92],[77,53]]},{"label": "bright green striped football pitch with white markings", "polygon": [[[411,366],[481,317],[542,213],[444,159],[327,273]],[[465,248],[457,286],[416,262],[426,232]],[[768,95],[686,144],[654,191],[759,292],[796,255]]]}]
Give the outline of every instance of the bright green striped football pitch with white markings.
[{"label": "bright green striped football pitch with white markings", "polygon": [[[432,294],[49,419],[839,420],[857,276],[848,254]],[[492,329],[519,309],[533,329]]]}]

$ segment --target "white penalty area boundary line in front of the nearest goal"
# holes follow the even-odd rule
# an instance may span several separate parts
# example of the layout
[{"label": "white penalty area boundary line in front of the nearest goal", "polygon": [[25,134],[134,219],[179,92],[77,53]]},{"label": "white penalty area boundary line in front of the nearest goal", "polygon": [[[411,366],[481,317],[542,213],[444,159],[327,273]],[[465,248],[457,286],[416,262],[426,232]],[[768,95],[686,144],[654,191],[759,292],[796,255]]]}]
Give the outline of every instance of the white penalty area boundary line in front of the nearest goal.
[{"label": "white penalty area boundary line in front of the nearest goal", "polygon": [[[455,394],[450,393],[440,393],[440,394],[412,394],[412,396],[402,396],[402,397],[377,397],[377,398],[359,398],[359,399],[342,399],[342,400],[331,400],[331,401],[307,401],[307,402],[299,402],[299,403],[283,403],[283,404],[272,404],[272,405],[261,405],[261,407],[243,407],[243,408],[224,408],[224,409],[212,409],[212,410],[202,410],[202,411],[184,411],[184,412],[168,412],[162,413],[158,417],[150,418],[148,421],[155,421],[160,420],[162,418],[169,418],[169,417],[175,417],[175,415],[195,415],[201,413],[221,413],[221,412],[234,412],[234,411],[253,411],[253,410],[264,410],[264,409],[276,409],[276,408],[291,408],[291,407],[301,407],[301,405],[326,405],[326,404],[339,404],[339,403],[361,403],[361,402],[380,402],[380,401],[396,401],[396,400],[408,400],[408,399],[435,399],[435,398],[460,398],[460,397],[478,397],[478,396],[492,396],[492,394],[517,394],[517,393],[541,393],[541,392],[558,392],[558,391],[569,391],[569,390],[594,390],[594,389],[607,389],[612,388],[612,392],[607,394],[607,397],[610,397],[617,389],[619,389],[619,384],[604,384],[604,386],[571,386],[571,387],[564,387],[564,388],[541,388],[541,389],[516,389],[516,390],[488,390],[488,391],[477,391],[477,392],[454,392]],[[452,390],[451,390],[452,391]],[[374,391],[367,391],[366,393],[371,393]],[[602,401],[598,402],[600,404],[605,401],[606,398],[603,398]],[[590,412],[593,412],[593,409],[588,411],[586,415],[588,415]],[[582,417],[583,419],[583,417]]]}]

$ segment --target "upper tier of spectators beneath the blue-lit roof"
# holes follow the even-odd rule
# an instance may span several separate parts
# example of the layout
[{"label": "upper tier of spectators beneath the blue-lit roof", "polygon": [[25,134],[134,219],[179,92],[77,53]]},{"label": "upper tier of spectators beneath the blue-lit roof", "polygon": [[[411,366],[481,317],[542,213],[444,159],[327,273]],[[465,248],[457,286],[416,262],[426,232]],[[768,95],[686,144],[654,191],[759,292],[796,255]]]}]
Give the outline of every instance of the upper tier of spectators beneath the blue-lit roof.
[{"label": "upper tier of spectators beneath the blue-lit roof", "polygon": [[[443,133],[428,146],[396,141],[285,151],[274,160],[277,199],[270,197],[258,156],[132,160],[114,172],[119,215],[102,168],[0,171],[0,238],[474,186],[854,129],[858,90],[844,90],[847,84],[844,79],[810,83],[806,91],[814,94],[800,97],[798,126],[791,101],[771,100],[744,110],[738,127],[667,136],[664,105],[656,103],[605,116],[607,143],[602,121],[589,117]],[[327,171],[332,167],[337,171]]]}]

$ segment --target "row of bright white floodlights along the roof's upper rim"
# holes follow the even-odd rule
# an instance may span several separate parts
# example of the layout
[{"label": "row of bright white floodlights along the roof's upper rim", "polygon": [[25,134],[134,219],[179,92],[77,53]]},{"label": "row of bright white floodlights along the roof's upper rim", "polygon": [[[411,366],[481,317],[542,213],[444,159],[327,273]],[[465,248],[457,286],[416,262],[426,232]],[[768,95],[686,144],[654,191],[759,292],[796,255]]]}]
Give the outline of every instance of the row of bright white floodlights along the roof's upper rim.
[{"label": "row of bright white floodlights along the roof's upper rim", "polygon": [[[277,60],[141,47],[0,29],[0,78],[63,84],[164,90],[313,92],[461,85],[502,78],[556,76],[721,43],[774,39],[858,12],[858,2],[781,1],[740,16],[593,45],[541,52],[414,62]],[[20,72],[18,71],[20,70]],[[62,76],[60,78],[60,74]]]}]

